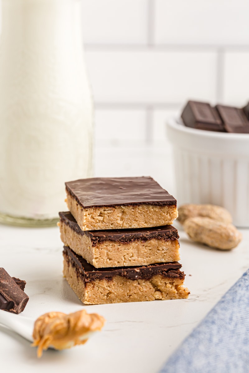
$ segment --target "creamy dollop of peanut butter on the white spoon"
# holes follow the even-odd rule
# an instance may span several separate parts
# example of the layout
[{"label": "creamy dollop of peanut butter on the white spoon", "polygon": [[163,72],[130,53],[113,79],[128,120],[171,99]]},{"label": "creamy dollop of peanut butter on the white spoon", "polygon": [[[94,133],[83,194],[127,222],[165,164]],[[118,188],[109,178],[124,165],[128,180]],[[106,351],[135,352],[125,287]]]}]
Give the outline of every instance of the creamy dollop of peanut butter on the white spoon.
[{"label": "creamy dollop of peanut butter on the white spoon", "polygon": [[104,323],[102,316],[88,314],[85,310],[70,314],[45,313],[35,321],[32,346],[38,346],[37,357],[41,357],[43,350],[49,347],[63,350],[81,345],[87,342],[92,333],[101,330]]}]

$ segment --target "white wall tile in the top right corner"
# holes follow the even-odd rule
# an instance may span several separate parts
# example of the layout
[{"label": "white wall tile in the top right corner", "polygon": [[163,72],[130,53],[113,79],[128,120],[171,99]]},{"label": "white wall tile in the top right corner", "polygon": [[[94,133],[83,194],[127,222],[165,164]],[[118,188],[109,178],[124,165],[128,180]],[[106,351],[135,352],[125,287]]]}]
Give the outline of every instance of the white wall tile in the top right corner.
[{"label": "white wall tile in the top right corner", "polygon": [[247,0],[155,0],[156,44],[248,44]]}]

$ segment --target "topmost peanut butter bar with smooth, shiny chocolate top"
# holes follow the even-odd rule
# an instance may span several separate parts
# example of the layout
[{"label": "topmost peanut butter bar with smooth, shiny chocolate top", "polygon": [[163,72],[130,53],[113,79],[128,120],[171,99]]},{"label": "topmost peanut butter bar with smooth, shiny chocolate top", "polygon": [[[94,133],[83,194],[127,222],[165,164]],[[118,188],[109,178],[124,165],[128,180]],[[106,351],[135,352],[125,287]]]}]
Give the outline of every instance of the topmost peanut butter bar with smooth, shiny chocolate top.
[{"label": "topmost peanut butter bar with smooth, shiny chocolate top", "polygon": [[82,231],[172,224],[177,202],[150,177],[66,182],[66,202]]}]

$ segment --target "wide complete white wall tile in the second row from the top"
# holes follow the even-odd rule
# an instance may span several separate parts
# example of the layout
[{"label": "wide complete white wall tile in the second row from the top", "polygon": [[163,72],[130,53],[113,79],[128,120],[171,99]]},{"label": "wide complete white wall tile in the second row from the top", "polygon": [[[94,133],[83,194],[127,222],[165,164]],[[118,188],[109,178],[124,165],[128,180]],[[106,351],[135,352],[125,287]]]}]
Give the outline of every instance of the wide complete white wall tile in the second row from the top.
[{"label": "wide complete white wall tile in the second row from the top", "polygon": [[213,52],[89,51],[87,63],[97,103],[215,99]]}]

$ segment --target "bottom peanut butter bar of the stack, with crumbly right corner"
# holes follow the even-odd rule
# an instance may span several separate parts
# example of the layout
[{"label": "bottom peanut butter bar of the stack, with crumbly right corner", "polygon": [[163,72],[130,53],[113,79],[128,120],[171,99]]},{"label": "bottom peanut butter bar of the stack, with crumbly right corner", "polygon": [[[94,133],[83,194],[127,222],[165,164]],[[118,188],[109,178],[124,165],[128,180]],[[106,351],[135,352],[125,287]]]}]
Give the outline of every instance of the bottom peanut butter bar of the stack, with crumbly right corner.
[{"label": "bottom peanut butter bar of the stack, with crumbly right corner", "polygon": [[187,298],[181,264],[97,269],[64,246],[63,274],[85,304],[153,301]]}]

